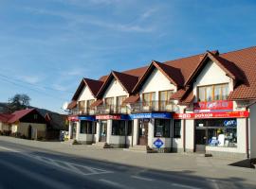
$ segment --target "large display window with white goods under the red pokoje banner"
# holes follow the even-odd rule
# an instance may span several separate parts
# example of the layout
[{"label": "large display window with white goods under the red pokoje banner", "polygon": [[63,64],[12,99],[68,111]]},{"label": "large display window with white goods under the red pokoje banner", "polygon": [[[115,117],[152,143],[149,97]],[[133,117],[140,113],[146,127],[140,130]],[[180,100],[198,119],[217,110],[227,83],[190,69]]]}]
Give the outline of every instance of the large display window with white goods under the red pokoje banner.
[{"label": "large display window with white goods under the red pokoje banner", "polygon": [[[195,126],[197,140],[201,140],[204,145],[237,146],[237,120],[235,118],[195,120]],[[202,140],[198,132],[202,133],[201,138],[206,137],[206,140]]]}]

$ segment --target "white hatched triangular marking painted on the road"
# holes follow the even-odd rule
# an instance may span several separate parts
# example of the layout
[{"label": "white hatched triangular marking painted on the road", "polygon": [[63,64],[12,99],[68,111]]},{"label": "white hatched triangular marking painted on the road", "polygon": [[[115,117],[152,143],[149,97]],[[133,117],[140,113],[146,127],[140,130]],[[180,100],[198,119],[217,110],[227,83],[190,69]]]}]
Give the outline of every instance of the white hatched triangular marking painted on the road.
[{"label": "white hatched triangular marking painted on the road", "polygon": [[31,156],[31,157],[35,158],[38,161],[52,164],[54,166],[75,172],[83,176],[113,173],[113,171],[108,171],[100,168],[77,164],[77,163],[67,163],[64,161],[54,160],[54,159],[41,157],[41,156]]}]

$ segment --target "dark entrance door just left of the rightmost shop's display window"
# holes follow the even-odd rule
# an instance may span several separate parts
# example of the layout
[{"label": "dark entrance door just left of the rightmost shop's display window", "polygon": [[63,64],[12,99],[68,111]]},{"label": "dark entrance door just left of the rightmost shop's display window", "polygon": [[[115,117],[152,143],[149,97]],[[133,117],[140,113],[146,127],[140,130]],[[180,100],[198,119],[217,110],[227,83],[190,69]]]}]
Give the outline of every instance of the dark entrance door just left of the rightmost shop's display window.
[{"label": "dark entrance door just left of the rightmost shop's display window", "polygon": [[195,129],[195,152],[205,153],[207,145],[207,129]]}]

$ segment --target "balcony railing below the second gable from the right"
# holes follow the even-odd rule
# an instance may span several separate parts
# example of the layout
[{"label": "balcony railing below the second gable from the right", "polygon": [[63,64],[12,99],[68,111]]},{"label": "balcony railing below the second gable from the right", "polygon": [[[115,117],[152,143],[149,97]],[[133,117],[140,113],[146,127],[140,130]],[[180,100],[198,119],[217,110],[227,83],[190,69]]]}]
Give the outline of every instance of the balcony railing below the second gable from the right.
[{"label": "balcony railing below the second gable from the right", "polygon": [[176,112],[177,105],[167,101],[136,102],[131,104],[131,112]]}]

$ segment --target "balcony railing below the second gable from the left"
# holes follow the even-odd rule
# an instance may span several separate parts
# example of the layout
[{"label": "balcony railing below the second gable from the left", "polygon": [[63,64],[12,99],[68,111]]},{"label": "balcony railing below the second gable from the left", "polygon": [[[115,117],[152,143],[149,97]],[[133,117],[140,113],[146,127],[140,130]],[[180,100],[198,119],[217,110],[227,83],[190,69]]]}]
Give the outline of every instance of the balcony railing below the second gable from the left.
[{"label": "balcony railing below the second gable from the left", "polygon": [[101,105],[96,109],[97,114],[107,114],[107,113],[129,113],[129,109],[126,106],[117,105]]}]

